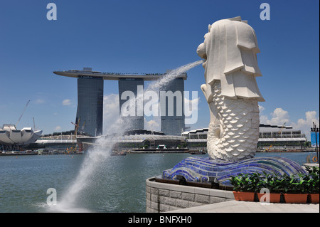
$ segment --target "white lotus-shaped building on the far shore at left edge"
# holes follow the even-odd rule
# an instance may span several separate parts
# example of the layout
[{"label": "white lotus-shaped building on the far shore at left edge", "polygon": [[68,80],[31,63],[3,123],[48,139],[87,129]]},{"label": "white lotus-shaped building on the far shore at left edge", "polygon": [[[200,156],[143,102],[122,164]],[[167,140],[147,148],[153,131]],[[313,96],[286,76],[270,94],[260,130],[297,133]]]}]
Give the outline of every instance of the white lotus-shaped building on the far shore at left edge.
[{"label": "white lotus-shaped building on the far shore at left edge", "polygon": [[0,127],[0,144],[24,145],[35,142],[41,137],[42,130],[33,131],[31,127],[23,127],[17,130],[15,125]]}]

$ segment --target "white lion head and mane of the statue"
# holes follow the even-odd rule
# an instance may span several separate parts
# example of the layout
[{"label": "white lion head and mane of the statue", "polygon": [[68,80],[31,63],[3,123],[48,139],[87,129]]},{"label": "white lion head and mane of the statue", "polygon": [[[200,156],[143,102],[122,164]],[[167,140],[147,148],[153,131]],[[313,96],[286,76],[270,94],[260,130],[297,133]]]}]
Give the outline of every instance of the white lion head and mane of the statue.
[{"label": "white lion head and mane of the statue", "polygon": [[255,31],[241,17],[223,19],[208,26],[204,42],[198,46],[198,56],[203,58],[206,85],[201,89],[208,102],[212,98],[211,86],[220,80],[222,95],[233,98],[254,98],[265,101],[255,80],[261,76],[257,64]]}]

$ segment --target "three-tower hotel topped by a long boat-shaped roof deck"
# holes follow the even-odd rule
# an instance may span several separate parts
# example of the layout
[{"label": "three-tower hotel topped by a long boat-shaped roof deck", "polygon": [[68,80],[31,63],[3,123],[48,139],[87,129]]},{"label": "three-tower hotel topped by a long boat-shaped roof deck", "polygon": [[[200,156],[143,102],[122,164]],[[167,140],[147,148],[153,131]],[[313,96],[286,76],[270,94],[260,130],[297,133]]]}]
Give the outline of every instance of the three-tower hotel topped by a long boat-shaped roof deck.
[{"label": "three-tower hotel topped by a long boat-shaped roof deck", "polygon": [[[119,81],[119,111],[127,100],[122,100],[121,95],[125,91],[131,91],[137,97],[138,86],[144,86],[144,80],[157,80],[164,74],[120,74],[120,73],[101,73],[92,71],[92,68],[83,68],[83,70],[67,70],[67,71],[53,71],[57,75],[63,75],[73,78],[78,78],[78,108],[75,122],[78,122],[79,130],[97,136],[102,134],[103,125],[103,83],[104,80],[118,80]],[[186,73],[178,75],[169,85],[159,88],[159,91],[171,91],[175,93],[180,91],[183,99],[184,80],[186,80]],[[166,135],[181,135],[185,131],[185,116],[183,114],[182,102],[182,116],[176,114],[176,98],[174,99],[174,115],[168,114],[168,101],[165,103],[161,101],[160,107],[166,107],[166,115],[161,115],[161,131]],[[137,109],[137,108],[136,108]],[[127,116],[132,122],[132,128],[129,130],[144,130],[144,116],[136,115]]]}]

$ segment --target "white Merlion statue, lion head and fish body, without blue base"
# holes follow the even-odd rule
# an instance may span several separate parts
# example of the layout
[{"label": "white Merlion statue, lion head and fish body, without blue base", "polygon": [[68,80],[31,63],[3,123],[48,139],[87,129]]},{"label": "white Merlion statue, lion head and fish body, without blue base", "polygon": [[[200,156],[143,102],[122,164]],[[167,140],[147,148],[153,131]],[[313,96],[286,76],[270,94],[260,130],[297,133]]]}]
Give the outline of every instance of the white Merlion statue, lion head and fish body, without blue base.
[{"label": "white Merlion statue, lion head and fish body, without blue base", "polygon": [[259,139],[259,107],[264,102],[255,80],[255,31],[240,16],[209,25],[197,53],[204,60],[206,84],[201,90],[210,109],[207,138],[212,159],[240,161],[255,156]]}]

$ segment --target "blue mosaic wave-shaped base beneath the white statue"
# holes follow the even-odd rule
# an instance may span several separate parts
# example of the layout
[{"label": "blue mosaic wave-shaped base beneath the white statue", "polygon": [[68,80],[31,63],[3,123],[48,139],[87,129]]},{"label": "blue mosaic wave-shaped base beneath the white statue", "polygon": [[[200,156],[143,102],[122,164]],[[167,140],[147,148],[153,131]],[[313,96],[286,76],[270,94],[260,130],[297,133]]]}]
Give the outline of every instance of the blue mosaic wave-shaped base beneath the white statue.
[{"label": "blue mosaic wave-shaped base beneath the white statue", "polygon": [[220,184],[230,186],[230,177],[238,174],[252,174],[265,171],[267,174],[306,174],[297,162],[283,157],[255,157],[239,162],[228,162],[209,157],[189,157],[183,159],[172,169],[165,170],[164,179],[176,179],[183,175],[186,181],[208,182],[209,177],[216,177]]}]

